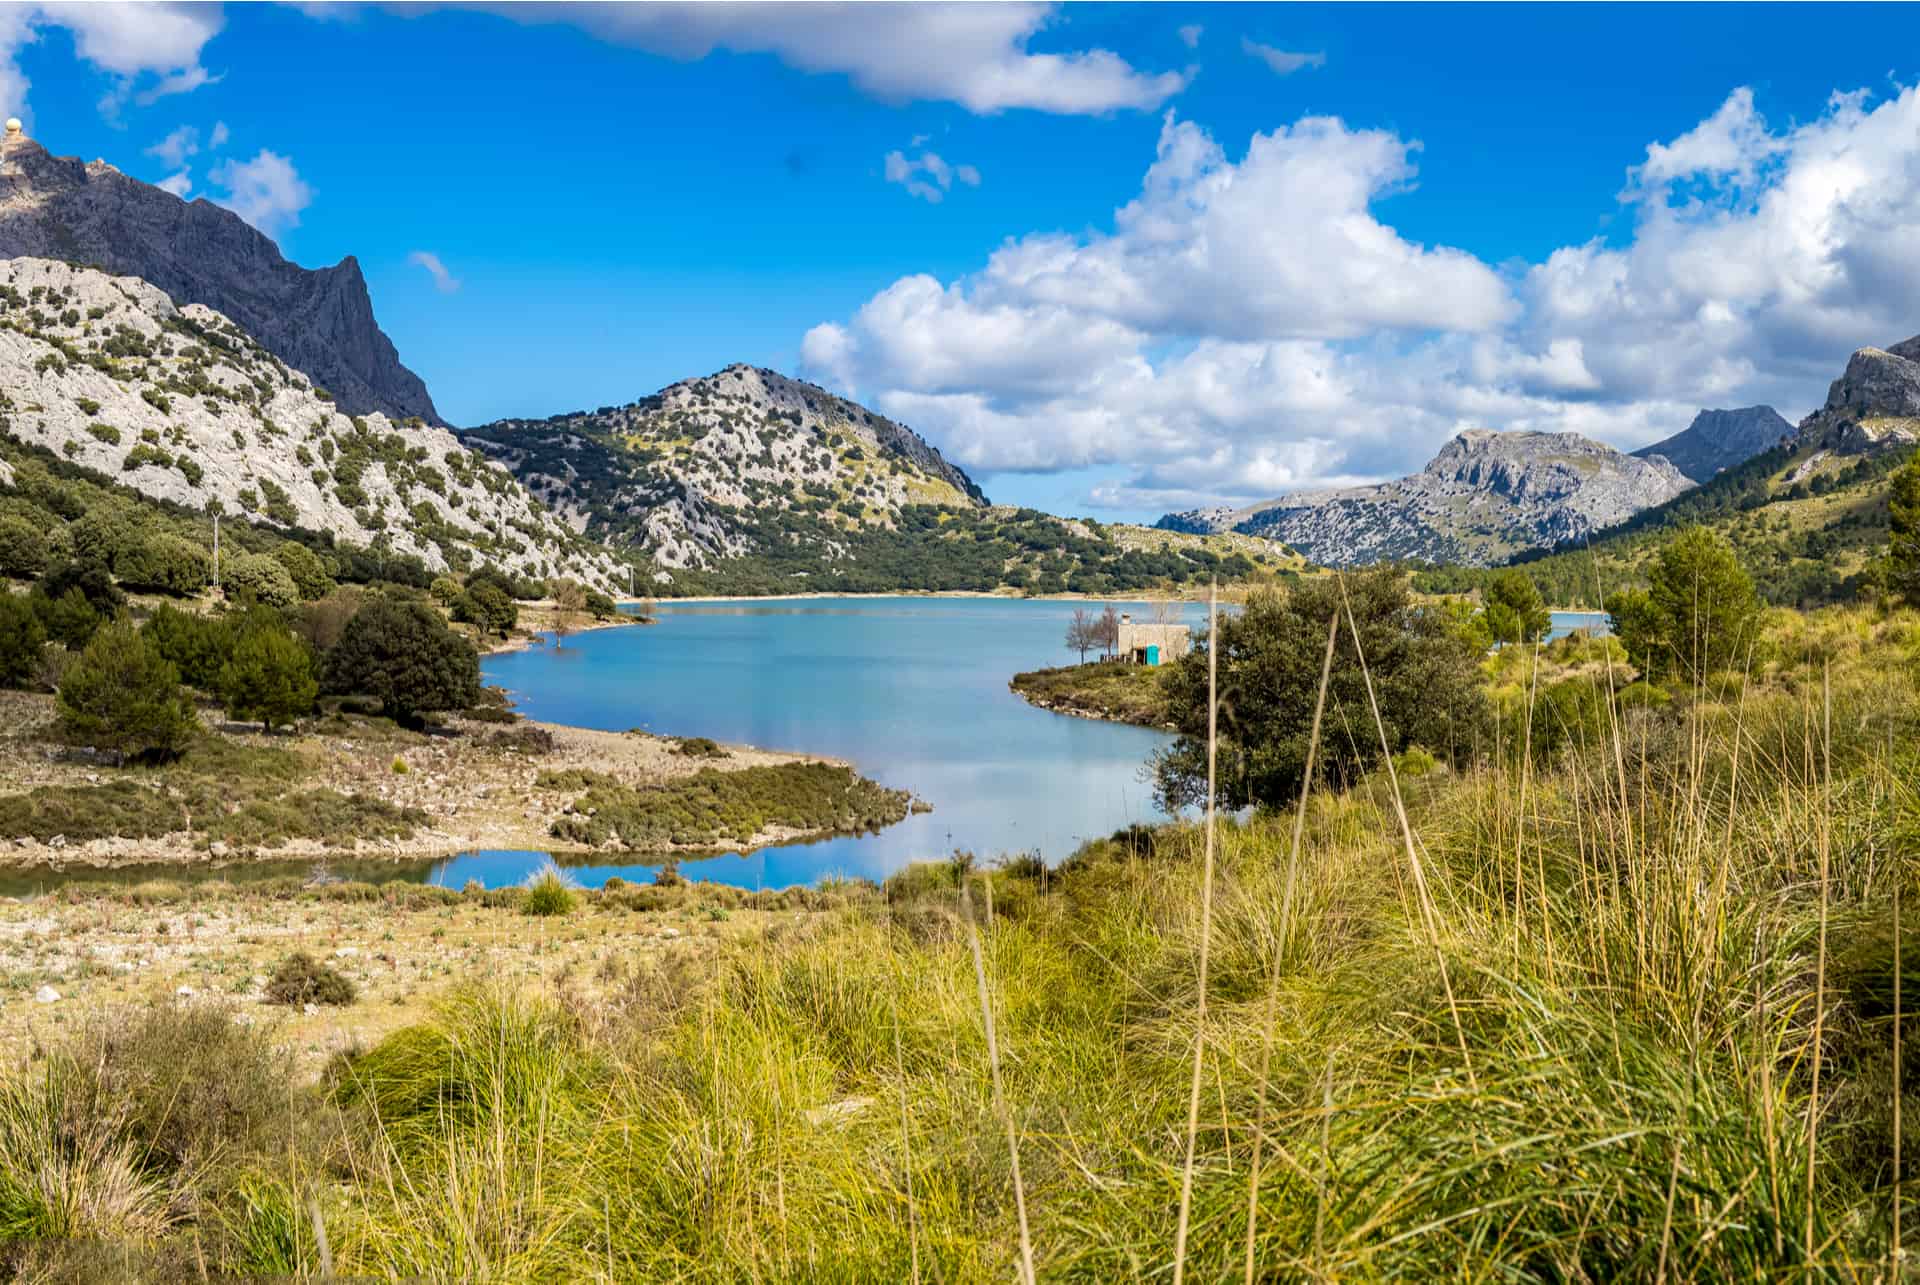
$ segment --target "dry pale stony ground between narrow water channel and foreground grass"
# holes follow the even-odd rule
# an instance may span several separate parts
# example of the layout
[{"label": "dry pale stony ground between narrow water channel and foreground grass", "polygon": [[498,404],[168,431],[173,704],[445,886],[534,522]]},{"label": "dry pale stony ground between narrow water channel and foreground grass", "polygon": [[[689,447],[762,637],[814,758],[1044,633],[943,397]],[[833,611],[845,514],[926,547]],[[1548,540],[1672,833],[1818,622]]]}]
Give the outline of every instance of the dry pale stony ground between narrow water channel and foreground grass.
[{"label": "dry pale stony ground between narrow water channel and foreground grass", "polygon": [[[634,893],[641,889],[632,889]],[[649,974],[695,964],[728,937],[804,924],[735,889],[678,885],[578,893],[563,916],[530,916],[515,893],[459,895],[365,885],[263,895],[228,885],[142,884],[121,891],[0,899],[0,1064],[19,1064],[119,1006],[219,1005],[267,1024],[311,1074],[426,1016],[463,983],[488,982],[605,1001]],[[426,893],[434,893],[428,897]],[[762,897],[764,901],[764,897]],[[359,991],[346,1006],[269,1003],[294,951]]]}]

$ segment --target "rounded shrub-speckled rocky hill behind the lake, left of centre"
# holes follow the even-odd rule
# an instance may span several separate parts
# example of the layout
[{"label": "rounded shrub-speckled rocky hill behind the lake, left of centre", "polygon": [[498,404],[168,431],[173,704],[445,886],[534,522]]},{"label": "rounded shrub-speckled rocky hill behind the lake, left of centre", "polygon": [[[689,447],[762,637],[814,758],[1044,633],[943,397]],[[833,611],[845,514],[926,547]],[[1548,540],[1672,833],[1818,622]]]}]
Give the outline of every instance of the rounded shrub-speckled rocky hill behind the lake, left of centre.
[{"label": "rounded shrub-speckled rocky hill behind the lake, left of centre", "polygon": [[[835,532],[891,528],[902,507],[987,503],[912,428],[776,371],[730,365],[628,405],[503,419],[463,432],[574,530],[662,567],[751,553],[774,513]],[[764,538],[764,536],[758,536]]]}]

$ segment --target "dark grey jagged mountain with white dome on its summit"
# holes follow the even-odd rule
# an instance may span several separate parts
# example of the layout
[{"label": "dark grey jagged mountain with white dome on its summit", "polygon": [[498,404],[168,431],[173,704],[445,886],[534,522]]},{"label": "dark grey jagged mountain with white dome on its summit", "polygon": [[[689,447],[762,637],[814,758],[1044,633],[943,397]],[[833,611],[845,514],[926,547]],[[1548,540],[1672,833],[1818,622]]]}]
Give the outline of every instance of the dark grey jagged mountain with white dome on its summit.
[{"label": "dark grey jagged mountain with white dome on its summit", "polygon": [[232,319],[349,415],[440,424],[420,376],[380,330],[359,261],[305,269],[240,215],[180,200],[106,161],[0,138],[0,257],[67,259],[138,277]]}]

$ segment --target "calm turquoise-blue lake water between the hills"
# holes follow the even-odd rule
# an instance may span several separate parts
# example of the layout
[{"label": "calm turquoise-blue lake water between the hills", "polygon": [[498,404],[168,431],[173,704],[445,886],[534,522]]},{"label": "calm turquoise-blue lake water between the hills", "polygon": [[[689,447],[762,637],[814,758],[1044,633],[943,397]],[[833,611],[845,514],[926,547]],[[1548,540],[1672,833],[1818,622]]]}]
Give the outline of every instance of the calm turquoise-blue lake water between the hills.
[{"label": "calm turquoise-blue lake water between the hills", "polygon": [[[1150,728],[1052,715],[1008,691],[1020,670],[1077,659],[1062,647],[1073,607],[970,597],[662,603],[647,628],[492,657],[486,680],[532,718],[831,755],[933,805],[879,834],[685,861],[687,878],[745,887],[879,880],[954,849],[1058,861],[1083,839],[1160,818],[1142,764],[1167,741]],[[1190,605],[1187,620],[1204,624],[1206,607]],[[1557,613],[1553,624],[1563,634],[1603,620]],[[465,853],[430,878],[503,885],[541,861]],[[622,861],[568,864],[588,885],[653,872]]]}]

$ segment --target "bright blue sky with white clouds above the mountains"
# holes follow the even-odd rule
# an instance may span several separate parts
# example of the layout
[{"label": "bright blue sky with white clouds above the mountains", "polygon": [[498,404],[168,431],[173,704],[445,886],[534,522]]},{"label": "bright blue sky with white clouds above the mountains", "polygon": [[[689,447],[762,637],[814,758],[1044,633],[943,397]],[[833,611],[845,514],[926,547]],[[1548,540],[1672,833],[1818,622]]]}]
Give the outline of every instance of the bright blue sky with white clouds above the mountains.
[{"label": "bright blue sky with white clouds above the mountains", "polygon": [[357,255],[453,423],[751,361],[996,499],[1150,519],[1467,426],[1799,419],[1920,330],[1916,36],[1801,6],[46,4],[0,17],[0,92],[54,152]]}]

